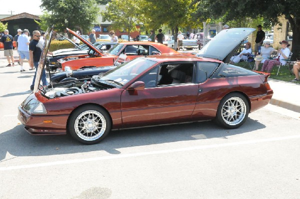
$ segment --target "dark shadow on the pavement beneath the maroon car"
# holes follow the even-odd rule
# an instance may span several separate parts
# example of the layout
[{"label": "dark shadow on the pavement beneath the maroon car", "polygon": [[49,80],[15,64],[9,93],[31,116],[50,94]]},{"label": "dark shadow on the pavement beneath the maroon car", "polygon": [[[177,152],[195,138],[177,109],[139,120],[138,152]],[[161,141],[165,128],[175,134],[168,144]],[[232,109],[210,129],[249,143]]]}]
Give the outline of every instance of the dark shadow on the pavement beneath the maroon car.
[{"label": "dark shadow on the pavement beneath the maroon car", "polygon": [[[264,125],[250,118],[238,129],[223,129],[212,121],[176,124],[139,129],[111,131],[100,143],[83,145],[69,135],[33,136],[23,125],[0,134],[0,163],[6,161],[8,152],[12,156],[49,156],[60,154],[106,151],[119,154],[119,148],[173,143],[210,138],[230,139],[228,136],[263,129]],[[57,150],[58,149],[58,150]]]}]

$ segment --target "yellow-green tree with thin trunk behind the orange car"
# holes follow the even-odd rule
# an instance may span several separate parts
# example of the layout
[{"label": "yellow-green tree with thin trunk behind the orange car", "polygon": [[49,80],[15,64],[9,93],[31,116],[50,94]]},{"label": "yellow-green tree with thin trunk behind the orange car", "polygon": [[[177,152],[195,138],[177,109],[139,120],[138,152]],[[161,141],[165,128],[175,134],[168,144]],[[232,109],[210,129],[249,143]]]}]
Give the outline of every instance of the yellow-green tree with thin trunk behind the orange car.
[{"label": "yellow-green tree with thin trunk behind the orange car", "polygon": [[111,0],[106,6],[106,10],[101,12],[103,21],[111,21],[111,27],[114,29],[125,29],[128,33],[136,30],[139,23],[137,18],[140,2],[142,0]]}]

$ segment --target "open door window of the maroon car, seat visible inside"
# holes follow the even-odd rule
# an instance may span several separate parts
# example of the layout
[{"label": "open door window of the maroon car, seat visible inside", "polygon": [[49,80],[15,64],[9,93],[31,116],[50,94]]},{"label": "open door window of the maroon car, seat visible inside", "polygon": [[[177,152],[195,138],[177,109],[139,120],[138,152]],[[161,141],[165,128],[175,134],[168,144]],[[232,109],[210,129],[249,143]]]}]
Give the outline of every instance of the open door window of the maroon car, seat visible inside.
[{"label": "open door window of the maroon car, seat visible inside", "polygon": [[193,66],[193,63],[161,65],[157,85],[192,83],[194,71]]}]

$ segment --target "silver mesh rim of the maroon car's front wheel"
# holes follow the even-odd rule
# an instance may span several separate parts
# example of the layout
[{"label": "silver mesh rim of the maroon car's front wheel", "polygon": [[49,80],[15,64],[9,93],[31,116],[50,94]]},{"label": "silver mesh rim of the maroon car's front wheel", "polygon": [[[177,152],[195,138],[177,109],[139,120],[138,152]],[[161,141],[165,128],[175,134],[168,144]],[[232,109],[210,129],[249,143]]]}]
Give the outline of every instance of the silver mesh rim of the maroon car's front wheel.
[{"label": "silver mesh rim of the maroon car's front wheel", "polygon": [[106,130],[106,121],[104,116],[97,111],[84,111],[77,116],[74,123],[74,130],[82,140],[97,140]]}]

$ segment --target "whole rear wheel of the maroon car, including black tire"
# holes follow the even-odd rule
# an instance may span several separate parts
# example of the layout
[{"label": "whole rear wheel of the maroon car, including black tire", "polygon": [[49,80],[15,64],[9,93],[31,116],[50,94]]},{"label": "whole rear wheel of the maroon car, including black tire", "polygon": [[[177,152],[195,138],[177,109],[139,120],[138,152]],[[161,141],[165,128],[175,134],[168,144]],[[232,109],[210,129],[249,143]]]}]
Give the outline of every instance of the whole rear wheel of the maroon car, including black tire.
[{"label": "whole rear wheel of the maroon car, including black tire", "polygon": [[246,98],[239,93],[230,93],[220,101],[216,121],[227,129],[240,127],[248,118],[249,104]]}]

